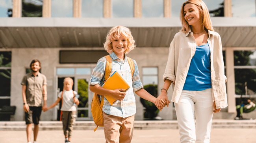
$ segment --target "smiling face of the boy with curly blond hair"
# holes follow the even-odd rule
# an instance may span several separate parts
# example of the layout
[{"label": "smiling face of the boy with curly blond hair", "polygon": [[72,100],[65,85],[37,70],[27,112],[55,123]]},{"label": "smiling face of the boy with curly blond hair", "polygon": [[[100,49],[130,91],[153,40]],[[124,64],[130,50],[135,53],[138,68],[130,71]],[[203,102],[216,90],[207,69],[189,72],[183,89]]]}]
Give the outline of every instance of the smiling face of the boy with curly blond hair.
[{"label": "smiling face of the boy with curly blond hair", "polygon": [[124,52],[127,49],[127,39],[124,38],[123,36],[120,37],[115,37],[112,40],[112,47],[113,47],[113,51],[115,52],[115,54],[124,54]]}]

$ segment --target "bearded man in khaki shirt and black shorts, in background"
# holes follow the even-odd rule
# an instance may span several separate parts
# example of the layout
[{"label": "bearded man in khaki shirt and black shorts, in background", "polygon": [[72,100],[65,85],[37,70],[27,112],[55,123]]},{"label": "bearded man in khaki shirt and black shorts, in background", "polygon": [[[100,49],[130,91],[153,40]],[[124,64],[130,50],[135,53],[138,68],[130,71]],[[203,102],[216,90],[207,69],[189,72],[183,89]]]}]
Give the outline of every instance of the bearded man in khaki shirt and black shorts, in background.
[{"label": "bearded man in khaki shirt and black shorts, in background", "polygon": [[[30,63],[32,72],[26,74],[22,81],[22,98],[23,109],[25,111],[26,133],[28,143],[30,142],[32,134],[32,123],[34,124],[34,142],[36,143],[37,134],[39,130],[39,120],[42,109],[47,109],[47,91],[46,91],[46,76],[39,72],[41,63],[39,60],[32,60]],[[43,104],[42,104],[43,100]]]}]

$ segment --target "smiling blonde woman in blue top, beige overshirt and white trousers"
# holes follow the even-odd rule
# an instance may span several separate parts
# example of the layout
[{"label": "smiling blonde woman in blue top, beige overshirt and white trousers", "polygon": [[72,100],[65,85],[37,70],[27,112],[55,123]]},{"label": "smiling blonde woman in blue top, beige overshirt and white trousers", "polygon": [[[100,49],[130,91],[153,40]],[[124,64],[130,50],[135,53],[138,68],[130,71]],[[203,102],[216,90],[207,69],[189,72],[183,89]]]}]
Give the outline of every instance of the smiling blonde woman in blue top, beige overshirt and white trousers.
[{"label": "smiling blonde woman in blue top, beige overshirt and white trousers", "polygon": [[[167,103],[173,83],[181,143],[209,143],[213,113],[227,106],[221,37],[214,32],[202,0],[188,0],[180,11],[182,30],[169,49],[165,81],[157,106]],[[195,127],[196,118],[196,127]]]}]

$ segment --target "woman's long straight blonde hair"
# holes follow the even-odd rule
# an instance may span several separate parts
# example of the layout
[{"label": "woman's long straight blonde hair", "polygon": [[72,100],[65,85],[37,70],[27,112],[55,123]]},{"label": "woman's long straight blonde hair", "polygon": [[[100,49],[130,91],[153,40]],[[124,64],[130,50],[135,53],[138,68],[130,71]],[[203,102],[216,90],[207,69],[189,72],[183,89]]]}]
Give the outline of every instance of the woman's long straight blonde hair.
[{"label": "woman's long straight blonde hair", "polygon": [[185,20],[185,14],[184,14],[184,6],[186,4],[194,4],[198,7],[201,17],[202,17],[202,25],[204,28],[214,31],[212,24],[211,24],[211,19],[210,19],[210,14],[208,11],[208,8],[204,4],[202,0],[188,0],[187,2],[184,2],[182,4],[181,10],[180,10],[180,21],[182,23],[182,29],[180,30],[181,32],[187,33],[191,27]]}]

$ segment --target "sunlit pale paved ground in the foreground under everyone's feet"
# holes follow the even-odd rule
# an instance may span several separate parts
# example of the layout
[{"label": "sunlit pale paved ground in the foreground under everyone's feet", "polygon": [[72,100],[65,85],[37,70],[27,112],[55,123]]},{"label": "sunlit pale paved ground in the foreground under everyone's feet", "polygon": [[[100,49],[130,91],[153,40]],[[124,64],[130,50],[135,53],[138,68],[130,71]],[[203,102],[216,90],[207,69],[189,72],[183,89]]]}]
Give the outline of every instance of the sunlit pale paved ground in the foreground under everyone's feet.
[{"label": "sunlit pale paved ground in the foreground under everyone's feet", "polygon": [[[256,129],[212,129],[210,141],[211,143],[256,143]],[[27,143],[26,131],[0,131],[0,143]],[[63,132],[41,130],[37,143],[64,143]],[[96,132],[74,130],[72,143],[105,143],[104,130],[98,129]],[[132,143],[179,143],[179,133],[177,129],[134,130]]]}]

